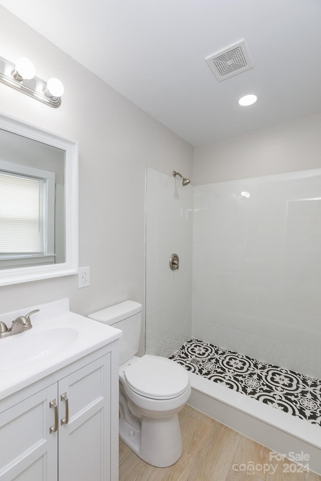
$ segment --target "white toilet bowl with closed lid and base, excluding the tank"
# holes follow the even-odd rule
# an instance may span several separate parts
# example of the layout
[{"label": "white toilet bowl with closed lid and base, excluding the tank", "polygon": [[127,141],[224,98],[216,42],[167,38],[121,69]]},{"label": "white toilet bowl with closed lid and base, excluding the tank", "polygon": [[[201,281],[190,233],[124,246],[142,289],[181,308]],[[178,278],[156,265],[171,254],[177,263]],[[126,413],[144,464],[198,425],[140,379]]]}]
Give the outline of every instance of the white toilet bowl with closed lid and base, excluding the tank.
[{"label": "white toilet bowl with closed lid and base, excluding the tank", "polygon": [[178,413],[190,394],[188,374],[174,361],[131,358],[119,368],[120,439],[153,466],[174,464],[183,451]]}]

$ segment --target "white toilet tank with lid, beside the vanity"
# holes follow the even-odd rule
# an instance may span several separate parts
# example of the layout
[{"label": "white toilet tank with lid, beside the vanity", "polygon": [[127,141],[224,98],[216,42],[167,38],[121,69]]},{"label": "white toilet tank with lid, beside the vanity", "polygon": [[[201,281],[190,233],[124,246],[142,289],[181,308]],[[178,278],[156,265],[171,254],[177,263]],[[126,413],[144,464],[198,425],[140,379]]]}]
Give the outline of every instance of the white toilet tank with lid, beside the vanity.
[{"label": "white toilet tank with lid, beside the vanity", "polygon": [[87,317],[122,331],[119,339],[119,365],[137,353],[141,327],[141,304],[124,301],[88,314]]}]

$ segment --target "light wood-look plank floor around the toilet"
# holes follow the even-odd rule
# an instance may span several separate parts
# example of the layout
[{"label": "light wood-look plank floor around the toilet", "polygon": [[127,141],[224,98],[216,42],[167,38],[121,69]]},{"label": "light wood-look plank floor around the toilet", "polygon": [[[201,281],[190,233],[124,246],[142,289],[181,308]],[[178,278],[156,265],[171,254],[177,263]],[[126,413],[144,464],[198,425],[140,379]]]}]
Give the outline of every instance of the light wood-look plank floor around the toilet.
[{"label": "light wood-look plank floor around the toilet", "polygon": [[[268,448],[191,406],[185,406],[179,418],[181,458],[172,466],[154,467],[119,441],[119,481],[321,481],[311,471],[299,472],[301,466],[292,461],[270,460]],[[253,471],[245,470],[251,466]]]}]

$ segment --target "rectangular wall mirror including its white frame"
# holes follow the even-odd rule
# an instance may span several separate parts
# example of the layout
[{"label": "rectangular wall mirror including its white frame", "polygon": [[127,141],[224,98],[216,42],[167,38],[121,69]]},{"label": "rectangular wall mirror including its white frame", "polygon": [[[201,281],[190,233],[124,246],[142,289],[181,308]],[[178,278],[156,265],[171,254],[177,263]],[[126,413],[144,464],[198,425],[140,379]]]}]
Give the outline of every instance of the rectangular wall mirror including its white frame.
[{"label": "rectangular wall mirror including its white frame", "polygon": [[78,272],[78,144],[0,114],[0,286]]}]

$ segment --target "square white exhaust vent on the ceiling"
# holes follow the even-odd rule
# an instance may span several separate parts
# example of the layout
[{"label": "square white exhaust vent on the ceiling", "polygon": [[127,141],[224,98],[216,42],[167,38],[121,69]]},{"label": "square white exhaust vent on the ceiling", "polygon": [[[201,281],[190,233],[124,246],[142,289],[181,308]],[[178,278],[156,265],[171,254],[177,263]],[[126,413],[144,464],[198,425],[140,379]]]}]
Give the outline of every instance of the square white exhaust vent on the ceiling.
[{"label": "square white exhaust vent on the ceiling", "polygon": [[205,60],[219,82],[253,68],[244,40]]}]

